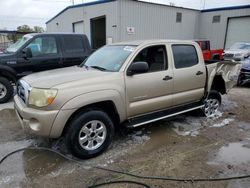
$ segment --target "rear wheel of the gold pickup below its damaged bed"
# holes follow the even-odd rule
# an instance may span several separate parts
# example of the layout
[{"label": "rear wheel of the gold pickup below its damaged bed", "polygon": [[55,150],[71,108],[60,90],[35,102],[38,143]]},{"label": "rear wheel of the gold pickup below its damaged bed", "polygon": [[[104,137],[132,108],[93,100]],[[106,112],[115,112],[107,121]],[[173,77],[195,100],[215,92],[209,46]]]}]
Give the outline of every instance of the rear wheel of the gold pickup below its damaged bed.
[{"label": "rear wheel of the gold pickup below its damaged bed", "polygon": [[221,105],[221,95],[217,91],[210,91],[208,97],[205,100],[205,106],[202,109],[203,114],[206,117],[212,117],[219,110]]}]

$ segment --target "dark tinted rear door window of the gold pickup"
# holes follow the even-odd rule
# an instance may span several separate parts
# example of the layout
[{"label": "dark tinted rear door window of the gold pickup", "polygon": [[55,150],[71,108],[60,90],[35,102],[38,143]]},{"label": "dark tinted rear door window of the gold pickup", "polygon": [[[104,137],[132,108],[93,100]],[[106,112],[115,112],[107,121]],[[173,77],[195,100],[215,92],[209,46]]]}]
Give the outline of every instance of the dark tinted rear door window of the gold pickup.
[{"label": "dark tinted rear door window of the gold pickup", "polygon": [[192,45],[172,45],[176,69],[192,67],[199,63],[196,49]]}]

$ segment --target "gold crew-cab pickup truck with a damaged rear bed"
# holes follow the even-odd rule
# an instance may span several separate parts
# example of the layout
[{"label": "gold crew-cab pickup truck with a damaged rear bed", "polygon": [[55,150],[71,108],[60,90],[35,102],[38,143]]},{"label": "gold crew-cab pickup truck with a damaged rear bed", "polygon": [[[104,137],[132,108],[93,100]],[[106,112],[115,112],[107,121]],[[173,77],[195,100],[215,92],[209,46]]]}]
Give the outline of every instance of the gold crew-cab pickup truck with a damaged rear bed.
[{"label": "gold crew-cab pickup truck with a damaged rear bed", "polygon": [[191,41],[104,46],[82,65],[32,74],[17,84],[15,110],[31,133],[65,137],[73,155],[91,158],[119,126],[137,127],[191,110],[212,116],[241,64],[205,64]]}]

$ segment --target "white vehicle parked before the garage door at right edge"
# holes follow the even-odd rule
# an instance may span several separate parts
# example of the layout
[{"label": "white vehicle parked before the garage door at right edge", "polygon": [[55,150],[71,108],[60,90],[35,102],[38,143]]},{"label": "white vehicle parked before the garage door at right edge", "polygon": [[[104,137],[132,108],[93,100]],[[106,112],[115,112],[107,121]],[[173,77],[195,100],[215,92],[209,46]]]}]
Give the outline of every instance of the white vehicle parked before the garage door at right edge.
[{"label": "white vehicle parked before the garage door at right edge", "polygon": [[225,50],[224,59],[238,58],[244,60],[250,56],[250,43],[236,42],[229,49]]}]

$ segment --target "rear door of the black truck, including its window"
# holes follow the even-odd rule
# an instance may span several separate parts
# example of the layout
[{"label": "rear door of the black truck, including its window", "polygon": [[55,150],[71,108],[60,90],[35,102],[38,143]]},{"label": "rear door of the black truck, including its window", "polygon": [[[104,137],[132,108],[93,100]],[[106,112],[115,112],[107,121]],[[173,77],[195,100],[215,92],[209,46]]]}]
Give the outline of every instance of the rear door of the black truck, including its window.
[{"label": "rear door of the black truck, including its window", "polygon": [[86,44],[81,35],[63,35],[63,66],[80,65],[87,58]]}]

